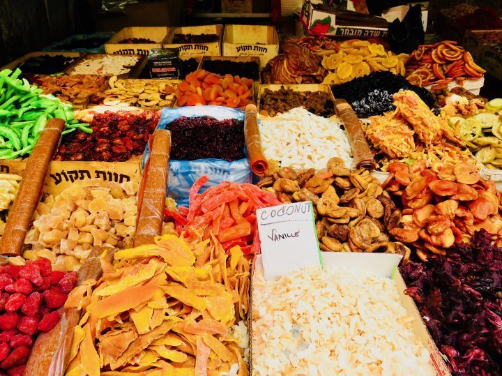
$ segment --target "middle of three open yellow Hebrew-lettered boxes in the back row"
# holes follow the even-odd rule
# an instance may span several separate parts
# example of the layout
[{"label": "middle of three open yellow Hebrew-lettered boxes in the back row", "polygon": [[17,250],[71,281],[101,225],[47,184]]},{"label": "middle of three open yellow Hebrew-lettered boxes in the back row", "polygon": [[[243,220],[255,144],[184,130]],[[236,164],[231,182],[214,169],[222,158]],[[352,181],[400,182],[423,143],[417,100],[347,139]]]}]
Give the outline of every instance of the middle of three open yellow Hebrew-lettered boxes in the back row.
[{"label": "middle of three open yellow Hebrew-lettered boxes in the back row", "polygon": [[[210,43],[173,43],[173,38],[176,34],[216,34],[218,40]],[[223,34],[223,25],[204,25],[204,26],[187,26],[176,27],[172,29],[167,36],[164,48],[179,48],[180,57],[194,56],[220,56],[221,55],[221,38]]]}]

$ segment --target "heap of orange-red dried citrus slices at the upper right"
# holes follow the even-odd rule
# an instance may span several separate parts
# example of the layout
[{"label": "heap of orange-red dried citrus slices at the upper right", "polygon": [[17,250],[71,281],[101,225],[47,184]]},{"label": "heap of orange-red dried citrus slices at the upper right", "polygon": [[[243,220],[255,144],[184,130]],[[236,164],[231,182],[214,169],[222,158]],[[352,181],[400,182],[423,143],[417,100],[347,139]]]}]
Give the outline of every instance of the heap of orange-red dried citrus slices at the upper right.
[{"label": "heap of orange-red dried citrus slices at the upper right", "polygon": [[486,70],[473,61],[470,52],[457,42],[447,40],[435,45],[420,45],[406,62],[406,80],[419,87],[448,84],[455,80],[477,80]]}]

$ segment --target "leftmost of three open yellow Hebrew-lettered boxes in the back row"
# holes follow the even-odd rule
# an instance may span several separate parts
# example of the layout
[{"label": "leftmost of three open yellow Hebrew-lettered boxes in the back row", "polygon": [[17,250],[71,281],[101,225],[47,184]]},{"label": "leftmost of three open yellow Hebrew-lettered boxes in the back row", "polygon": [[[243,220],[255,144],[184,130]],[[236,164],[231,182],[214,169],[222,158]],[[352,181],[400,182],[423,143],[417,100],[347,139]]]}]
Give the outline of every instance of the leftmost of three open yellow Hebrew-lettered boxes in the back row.
[{"label": "leftmost of three open yellow Hebrew-lettered boxes in the back row", "polygon": [[[107,54],[139,54],[148,55],[152,48],[162,48],[171,27],[126,27],[116,33],[105,43]],[[128,38],[148,38],[155,43],[119,43]]]}]

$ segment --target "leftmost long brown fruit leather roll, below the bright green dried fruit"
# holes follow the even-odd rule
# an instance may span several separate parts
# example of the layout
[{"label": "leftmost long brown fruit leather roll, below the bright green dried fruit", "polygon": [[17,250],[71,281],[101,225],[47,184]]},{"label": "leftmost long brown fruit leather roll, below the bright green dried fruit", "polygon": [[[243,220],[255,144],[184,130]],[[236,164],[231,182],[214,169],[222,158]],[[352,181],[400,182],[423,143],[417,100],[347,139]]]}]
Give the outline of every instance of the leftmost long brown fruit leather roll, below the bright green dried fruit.
[{"label": "leftmost long brown fruit leather roll, below the bright green dried fruit", "polygon": [[45,175],[61,140],[63,119],[50,119],[26,162],[20,190],[10,209],[5,231],[0,241],[0,255],[21,255],[24,237],[31,225],[33,212],[40,200]]}]

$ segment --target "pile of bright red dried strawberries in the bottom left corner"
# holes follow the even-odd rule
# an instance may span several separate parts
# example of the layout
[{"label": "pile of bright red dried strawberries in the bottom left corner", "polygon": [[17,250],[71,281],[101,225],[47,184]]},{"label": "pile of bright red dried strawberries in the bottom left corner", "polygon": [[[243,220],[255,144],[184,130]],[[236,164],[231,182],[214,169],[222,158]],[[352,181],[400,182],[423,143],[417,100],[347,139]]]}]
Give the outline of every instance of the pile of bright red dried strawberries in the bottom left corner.
[{"label": "pile of bright red dried strawberries in the bottom left corner", "polygon": [[52,271],[44,258],[0,266],[0,373],[23,375],[36,336],[56,326],[75,285],[76,273]]}]

